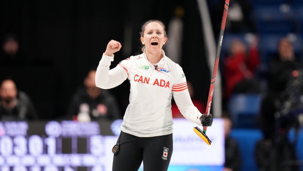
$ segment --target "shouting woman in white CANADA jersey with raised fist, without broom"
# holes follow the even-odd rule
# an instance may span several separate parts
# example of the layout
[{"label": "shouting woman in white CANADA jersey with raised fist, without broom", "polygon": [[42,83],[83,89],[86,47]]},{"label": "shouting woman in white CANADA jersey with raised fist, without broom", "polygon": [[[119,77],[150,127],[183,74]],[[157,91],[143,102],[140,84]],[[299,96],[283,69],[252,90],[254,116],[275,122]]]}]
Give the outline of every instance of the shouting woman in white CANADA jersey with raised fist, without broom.
[{"label": "shouting woman in white CANADA jersey with raised fist, without broom", "polygon": [[[109,89],[130,80],[130,104],[113,152],[113,171],[167,171],[173,152],[172,96],[182,115],[198,125],[211,126],[212,115],[201,114],[191,101],[182,68],[165,56],[165,26],[157,20],[141,28],[143,53],[109,70],[121,44],[111,40],[99,63],[96,86]],[[121,147],[120,147],[121,146]],[[117,149],[118,148],[118,149]]]}]

